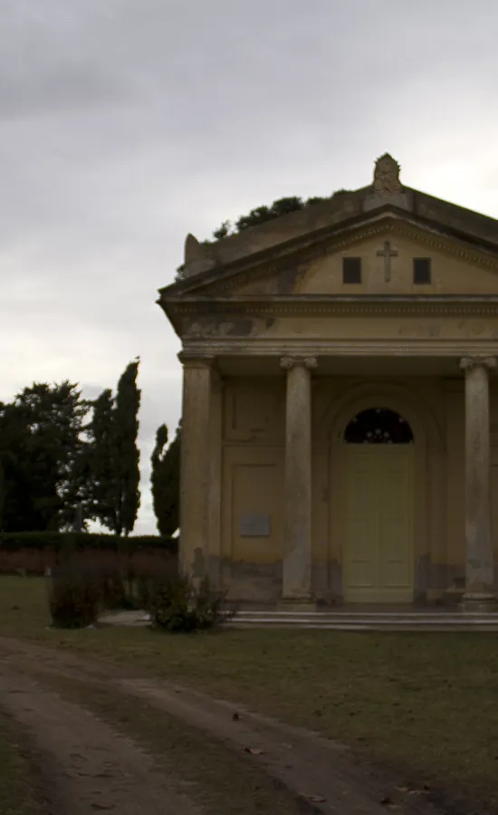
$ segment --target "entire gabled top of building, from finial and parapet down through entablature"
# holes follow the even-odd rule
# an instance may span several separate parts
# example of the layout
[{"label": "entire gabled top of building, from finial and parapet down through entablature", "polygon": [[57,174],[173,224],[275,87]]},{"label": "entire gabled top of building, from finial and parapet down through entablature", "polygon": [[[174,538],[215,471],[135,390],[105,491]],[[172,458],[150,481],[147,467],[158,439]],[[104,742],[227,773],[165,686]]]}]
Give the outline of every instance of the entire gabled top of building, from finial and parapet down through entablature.
[{"label": "entire gabled top of building, from finial and parapet down through entablature", "polygon": [[403,186],[399,170],[386,154],[369,187],[214,243],[189,235],[158,301],[184,350],[468,354],[475,340],[494,353],[498,221]]}]

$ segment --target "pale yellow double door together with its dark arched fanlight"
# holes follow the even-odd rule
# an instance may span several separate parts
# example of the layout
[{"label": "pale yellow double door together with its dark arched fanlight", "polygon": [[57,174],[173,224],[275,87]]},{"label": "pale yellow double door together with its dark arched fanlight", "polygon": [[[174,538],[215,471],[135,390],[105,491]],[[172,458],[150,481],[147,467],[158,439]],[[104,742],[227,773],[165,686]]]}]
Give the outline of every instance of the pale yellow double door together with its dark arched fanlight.
[{"label": "pale yellow double door together with its dark arched fanlight", "polygon": [[350,419],[346,446],[344,599],[413,599],[413,446],[404,417],[388,408]]}]

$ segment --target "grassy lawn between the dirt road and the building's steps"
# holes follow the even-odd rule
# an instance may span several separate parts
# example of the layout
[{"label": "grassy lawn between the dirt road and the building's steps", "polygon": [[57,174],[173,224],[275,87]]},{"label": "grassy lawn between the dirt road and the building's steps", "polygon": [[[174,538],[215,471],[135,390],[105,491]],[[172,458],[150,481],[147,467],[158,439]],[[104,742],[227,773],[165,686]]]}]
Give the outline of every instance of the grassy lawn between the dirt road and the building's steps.
[{"label": "grassy lawn between the dirt road and the building's steps", "polygon": [[48,630],[43,580],[0,578],[0,635],[181,681],[498,806],[498,647],[485,633]]}]

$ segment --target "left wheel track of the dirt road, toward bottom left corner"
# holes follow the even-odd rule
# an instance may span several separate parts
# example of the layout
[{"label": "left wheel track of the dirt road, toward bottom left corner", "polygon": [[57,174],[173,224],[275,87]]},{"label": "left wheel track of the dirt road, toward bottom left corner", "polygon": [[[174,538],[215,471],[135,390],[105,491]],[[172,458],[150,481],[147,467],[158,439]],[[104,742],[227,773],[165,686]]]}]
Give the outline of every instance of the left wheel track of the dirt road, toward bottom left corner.
[{"label": "left wheel track of the dirt road, toward bottom left corner", "polygon": [[2,666],[0,683],[2,705],[36,750],[47,811],[199,815],[187,797],[169,790],[150,757],[108,724],[12,668]]}]

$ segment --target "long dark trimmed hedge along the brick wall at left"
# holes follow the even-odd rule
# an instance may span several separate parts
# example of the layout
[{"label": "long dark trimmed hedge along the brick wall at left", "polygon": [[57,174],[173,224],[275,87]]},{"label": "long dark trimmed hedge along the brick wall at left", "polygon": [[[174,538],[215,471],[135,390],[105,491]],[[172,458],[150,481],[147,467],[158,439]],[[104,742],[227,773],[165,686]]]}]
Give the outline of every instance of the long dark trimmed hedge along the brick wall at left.
[{"label": "long dark trimmed hedge along the brick wall at left", "polygon": [[76,551],[105,550],[132,553],[143,550],[162,550],[176,555],[178,539],[161,535],[133,535],[121,538],[119,535],[97,532],[0,532],[0,551],[21,549],[53,549],[62,551],[71,547]]}]

